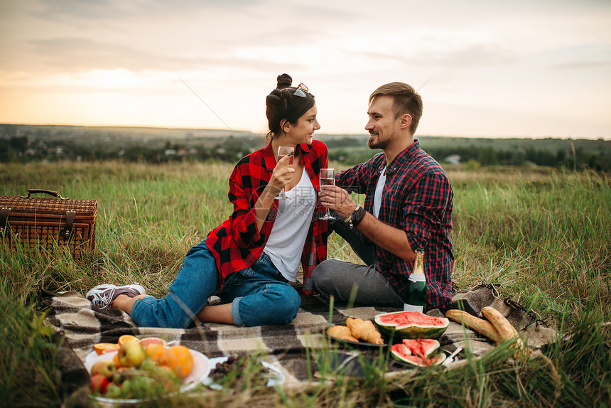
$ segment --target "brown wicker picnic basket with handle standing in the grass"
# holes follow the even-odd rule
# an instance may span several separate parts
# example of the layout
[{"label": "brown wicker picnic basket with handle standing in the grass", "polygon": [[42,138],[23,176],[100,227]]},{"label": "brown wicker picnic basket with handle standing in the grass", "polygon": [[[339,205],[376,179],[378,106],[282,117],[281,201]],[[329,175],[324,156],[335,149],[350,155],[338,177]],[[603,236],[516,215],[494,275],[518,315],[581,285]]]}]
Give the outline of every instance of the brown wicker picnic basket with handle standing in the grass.
[{"label": "brown wicker picnic basket with handle standing in the grass", "polygon": [[[55,198],[33,198],[44,193]],[[63,198],[57,191],[30,189],[27,196],[0,195],[0,239],[5,247],[33,254],[68,249],[80,259],[94,248],[96,200]]]}]

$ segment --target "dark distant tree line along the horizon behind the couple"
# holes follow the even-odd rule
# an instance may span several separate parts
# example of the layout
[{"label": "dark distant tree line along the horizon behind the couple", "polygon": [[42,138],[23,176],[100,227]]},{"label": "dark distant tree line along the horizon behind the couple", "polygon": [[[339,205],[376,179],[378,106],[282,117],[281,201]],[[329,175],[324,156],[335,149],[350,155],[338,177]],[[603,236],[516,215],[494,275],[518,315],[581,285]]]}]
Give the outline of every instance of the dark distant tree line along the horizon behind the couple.
[{"label": "dark distant tree line along the horizon behind the couple", "polygon": [[[371,151],[362,141],[343,138],[325,141],[329,147],[329,159],[347,165],[362,163],[377,151]],[[22,134],[11,134],[4,127],[0,134],[0,162],[26,163],[28,161],[145,161],[148,163],[168,163],[171,161],[229,161],[249,154],[263,146],[265,141],[227,137],[209,147],[187,145],[180,141],[166,141],[165,144],[93,144],[76,143],[63,139],[34,139]],[[493,149],[492,146],[422,146],[423,149],[440,163],[451,162],[450,158],[460,158],[466,166],[536,166],[563,167],[575,170],[593,169],[611,171],[611,161],[602,153],[585,153],[577,148],[571,151],[558,149],[550,151],[519,146],[515,149]]]}]

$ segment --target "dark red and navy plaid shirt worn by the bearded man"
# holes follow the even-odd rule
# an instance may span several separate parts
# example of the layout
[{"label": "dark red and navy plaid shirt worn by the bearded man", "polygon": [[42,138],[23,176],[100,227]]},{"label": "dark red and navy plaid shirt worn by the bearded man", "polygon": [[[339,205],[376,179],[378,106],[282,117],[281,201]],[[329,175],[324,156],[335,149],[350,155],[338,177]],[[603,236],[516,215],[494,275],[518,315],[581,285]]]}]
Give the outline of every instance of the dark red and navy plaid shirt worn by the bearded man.
[{"label": "dark red and navy plaid shirt worn by the bearded man", "polygon": [[[380,173],[386,166],[384,154],[377,154],[335,177],[337,186],[366,195],[364,208],[373,213],[374,193]],[[424,269],[428,284],[428,307],[450,303],[454,267],[452,199],[454,193],[443,168],[420,149],[418,140],[396,156],[386,170],[386,185],[378,219],[404,230],[412,249],[424,249]],[[365,242],[373,245],[365,238]],[[404,261],[378,246],[376,269],[403,296],[413,262]]]}]

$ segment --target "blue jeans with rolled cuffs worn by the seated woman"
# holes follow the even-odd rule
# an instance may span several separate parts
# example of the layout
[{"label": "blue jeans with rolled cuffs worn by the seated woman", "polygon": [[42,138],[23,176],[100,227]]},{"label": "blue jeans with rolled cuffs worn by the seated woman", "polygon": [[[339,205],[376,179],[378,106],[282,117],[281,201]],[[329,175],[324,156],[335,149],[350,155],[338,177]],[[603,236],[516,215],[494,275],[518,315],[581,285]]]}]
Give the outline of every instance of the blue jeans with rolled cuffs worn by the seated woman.
[{"label": "blue jeans with rolled cuffs worn by the seated woman", "polygon": [[168,295],[136,300],[131,319],[141,327],[186,328],[208,298],[218,294],[222,303],[232,303],[236,326],[291,323],[301,297],[293,286],[277,280],[281,276],[269,257],[262,254],[251,267],[229,274],[219,294],[220,273],[203,240],[189,249]]}]

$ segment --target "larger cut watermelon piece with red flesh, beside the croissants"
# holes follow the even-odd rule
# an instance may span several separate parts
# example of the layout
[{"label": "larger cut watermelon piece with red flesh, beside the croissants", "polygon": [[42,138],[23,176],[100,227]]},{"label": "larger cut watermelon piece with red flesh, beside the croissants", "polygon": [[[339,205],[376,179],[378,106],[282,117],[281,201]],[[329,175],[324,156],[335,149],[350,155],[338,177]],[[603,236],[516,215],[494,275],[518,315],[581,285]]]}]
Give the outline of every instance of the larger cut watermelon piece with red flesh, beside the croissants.
[{"label": "larger cut watermelon piece with red flesh, beside the croissants", "polygon": [[[392,320],[397,318],[402,320],[407,319],[408,321],[412,318],[415,321],[423,321],[425,323],[413,322],[397,326],[396,323],[392,322]],[[448,318],[428,316],[418,311],[380,313],[375,316],[374,321],[382,334],[395,336],[395,338],[439,338],[445,333],[445,329],[450,326]]]}]

